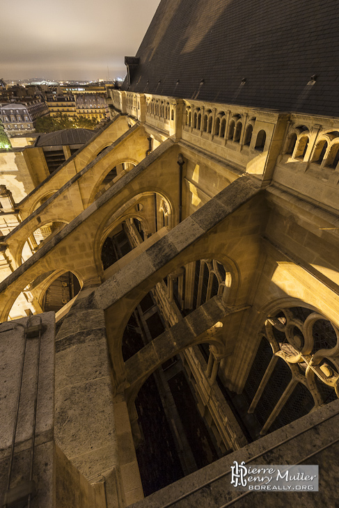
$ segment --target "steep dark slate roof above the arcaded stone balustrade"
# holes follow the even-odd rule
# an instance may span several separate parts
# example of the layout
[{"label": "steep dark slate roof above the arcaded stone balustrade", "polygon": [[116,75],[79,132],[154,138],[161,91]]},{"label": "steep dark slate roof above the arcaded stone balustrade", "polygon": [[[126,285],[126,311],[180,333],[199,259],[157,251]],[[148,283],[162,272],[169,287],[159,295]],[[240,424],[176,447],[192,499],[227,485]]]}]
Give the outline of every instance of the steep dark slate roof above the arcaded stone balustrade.
[{"label": "steep dark slate roof above the arcaded stone balustrade", "polygon": [[128,89],[339,116],[338,25],[338,0],[161,0]]}]

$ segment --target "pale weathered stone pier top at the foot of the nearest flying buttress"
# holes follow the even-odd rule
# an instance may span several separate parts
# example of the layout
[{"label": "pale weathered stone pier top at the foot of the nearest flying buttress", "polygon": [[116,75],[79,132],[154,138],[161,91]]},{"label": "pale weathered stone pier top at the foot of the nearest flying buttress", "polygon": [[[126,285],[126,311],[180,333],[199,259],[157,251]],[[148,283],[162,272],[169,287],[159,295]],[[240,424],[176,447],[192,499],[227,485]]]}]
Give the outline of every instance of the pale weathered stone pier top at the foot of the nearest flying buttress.
[{"label": "pale weathered stone pier top at the foot of the nearest flying buttress", "polygon": [[125,506],[102,309],[71,310],[56,336],[55,434],[80,473],[104,477],[107,505]]}]

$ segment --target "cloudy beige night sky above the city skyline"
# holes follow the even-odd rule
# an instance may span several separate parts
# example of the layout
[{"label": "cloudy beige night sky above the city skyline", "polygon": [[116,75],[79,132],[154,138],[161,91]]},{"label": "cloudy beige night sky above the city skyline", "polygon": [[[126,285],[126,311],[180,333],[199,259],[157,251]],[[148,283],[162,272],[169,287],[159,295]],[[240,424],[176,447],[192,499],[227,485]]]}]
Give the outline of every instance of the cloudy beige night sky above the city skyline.
[{"label": "cloudy beige night sky above the city skyline", "polygon": [[125,76],[159,0],[15,0],[1,6],[0,77]]}]

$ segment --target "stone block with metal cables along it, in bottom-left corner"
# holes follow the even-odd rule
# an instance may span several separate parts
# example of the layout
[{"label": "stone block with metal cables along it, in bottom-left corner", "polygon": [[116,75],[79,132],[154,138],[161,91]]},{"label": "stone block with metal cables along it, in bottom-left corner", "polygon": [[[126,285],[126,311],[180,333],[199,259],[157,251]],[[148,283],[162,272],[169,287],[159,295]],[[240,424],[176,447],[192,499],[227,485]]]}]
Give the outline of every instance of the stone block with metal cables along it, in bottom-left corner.
[{"label": "stone block with metal cables along it, in bottom-left corner", "polygon": [[116,507],[55,444],[54,312],[2,323],[0,337],[0,506]]}]

